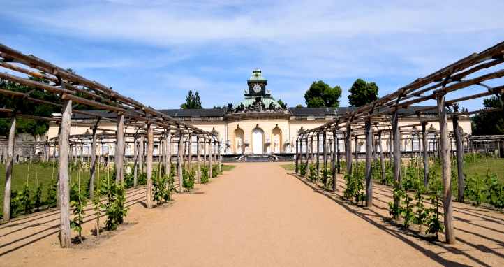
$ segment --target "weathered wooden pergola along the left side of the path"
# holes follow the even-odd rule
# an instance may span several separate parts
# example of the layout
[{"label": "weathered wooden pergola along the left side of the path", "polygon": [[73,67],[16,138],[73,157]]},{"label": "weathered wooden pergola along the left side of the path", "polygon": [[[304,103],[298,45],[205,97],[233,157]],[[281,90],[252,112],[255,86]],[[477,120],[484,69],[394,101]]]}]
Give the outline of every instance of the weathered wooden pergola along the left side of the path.
[{"label": "weathered wooden pergola along the left side of the path", "polygon": [[[198,178],[200,181],[200,155],[204,156],[206,162],[209,159],[209,172],[212,177],[212,166],[221,161],[220,150],[218,150],[219,140],[216,133],[204,131],[191,124],[180,122],[164,113],[145,106],[139,101],[135,101],[127,96],[123,96],[112,90],[110,87],[101,85],[99,82],[88,80],[64,68],[56,66],[34,55],[24,55],[22,52],[0,44],[0,66],[6,72],[0,73],[0,79],[15,82],[31,88],[29,92],[16,92],[9,89],[0,89],[0,94],[28,101],[30,103],[43,103],[57,108],[61,108],[61,117],[40,117],[22,114],[15,108],[0,107],[0,114],[3,117],[10,117],[10,133],[8,136],[8,159],[6,164],[6,187],[3,202],[3,221],[10,219],[10,183],[13,170],[13,149],[16,119],[18,117],[33,120],[46,120],[59,124],[59,134],[57,138],[47,140],[43,143],[43,158],[48,160],[50,148],[53,153],[57,150],[59,162],[59,209],[61,212],[61,227],[59,241],[61,247],[71,245],[70,213],[69,213],[69,187],[68,187],[68,163],[71,159],[71,146],[78,146],[82,142],[88,142],[91,146],[90,162],[90,185],[94,188],[96,179],[96,147],[98,138],[106,139],[108,143],[115,144],[114,166],[116,168],[116,182],[124,184],[124,149],[126,142],[135,144],[135,175],[137,168],[142,171],[145,162],[147,172],[147,208],[152,207],[152,171],[153,171],[153,150],[154,143],[157,142],[162,147],[163,172],[170,173],[171,166],[171,145],[178,145],[177,153],[177,180],[179,181],[179,192],[184,191],[182,182],[182,166],[184,159],[191,168],[191,158],[194,154],[191,151],[191,142],[195,138],[196,156],[198,161]],[[37,90],[57,96],[59,101],[46,101],[32,95]],[[90,110],[75,109],[75,106],[82,105],[93,110],[102,110],[106,113],[114,113],[116,116],[104,116],[103,113],[96,113]],[[73,120],[73,114],[80,114],[89,117],[87,122]],[[101,121],[108,121],[117,124],[116,130],[101,129]],[[71,126],[89,127],[87,133],[71,135]],[[102,133],[99,133],[102,131]],[[156,139],[156,140],[155,140]],[[185,142],[185,143],[184,143]],[[145,145],[144,145],[145,144]],[[184,144],[188,149],[184,149]],[[53,154],[53,157],[55,154]],[[54,157],[55,158],[55,157]],[[218,164],[220,168],[221,164]],[[159,168],[161,171],[161,168]],[[136,179],[135,179],[136,180]],[[92,196],[93,190],[90,190]]]}]

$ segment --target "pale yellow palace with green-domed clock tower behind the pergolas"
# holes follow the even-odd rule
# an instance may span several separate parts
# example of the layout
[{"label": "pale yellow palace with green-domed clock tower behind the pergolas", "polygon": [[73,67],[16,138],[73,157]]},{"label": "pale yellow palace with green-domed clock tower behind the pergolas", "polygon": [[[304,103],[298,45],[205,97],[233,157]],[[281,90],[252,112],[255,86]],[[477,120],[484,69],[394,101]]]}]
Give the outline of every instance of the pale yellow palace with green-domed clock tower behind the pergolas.
[{"label": "pale yellow palace with green-domed clock tower behind the pergolas", "polygon": [[[244,99],[234,105],[228,105],[224,108],[165,109],[160,111],[200,129],[214,131],[220,140],[222,154],[290,154],[295,152],[295,140],[299,131],[313,129],[354,109],[354,107],[289,108],[274,99],[272,92],[267,89],[267,80],[259,69],[252,72],[246,83]],[[424,106],[412,106],[401,110],[401,114],[406,116],[401,117],[399,126],[419,122],[415,110],[420,108],[424,108]],[[425,111],[422,115],[437,117],[436,109]],[[103,116],[108,116],[108,113],[103,113]],[[85,121],[89,120],[89,117],[74,114],[73,121],[74,119]],[[459,125],[464,133],[470,135],[471,127],[468,117],[461,117]],[[108,124],[106,121],[102,121],[100,127],[102,129],[116,129],[115,124]],[[448,123],[448,128],[452,131],[451,123]],[[429,122],[429,129],[438,130],[438,122]],[[89,128],[73,126],[71,134],[82,134],[86,131],[89,131]],[[57,136],[57,133],[58,126],[52,124],[47,137],[53,138]],[[420,146],[420,140],[416,138],[404,139],[403,150],[415,151]],[[383,142],[384,151],[387,152],[389,141],[384,140]],[[343,140],[339,145],[343,151]],[[353,145],[353,147],[357,147],[358,152],[364,152],[364,140],[362,142],[358,140],[357,145]],[[83,153],[87,154],[87,150],[89,151],[89,149],[84,149]],[[177,147],[172,146],[172,150],[175,152]],[[107,147],[107,151],[114,152],[113,144]],[[103,147],[102,152],[104,152]],[[126,144],[126,156],[132,154],[133,145]],[[154,154],[157,154],[157,147],[154,148]]]}]

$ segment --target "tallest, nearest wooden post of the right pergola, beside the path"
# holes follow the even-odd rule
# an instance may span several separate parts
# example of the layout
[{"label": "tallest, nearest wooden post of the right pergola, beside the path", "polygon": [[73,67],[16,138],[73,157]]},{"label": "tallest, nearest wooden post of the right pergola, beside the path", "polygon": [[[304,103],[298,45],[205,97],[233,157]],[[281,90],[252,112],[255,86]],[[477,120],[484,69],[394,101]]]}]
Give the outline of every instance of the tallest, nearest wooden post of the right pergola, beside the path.
[{"label": "tallest, nearest wooden post of the right pergola, beside the path", "polygon": [[452,182],[451,178],[451,162],[450,162],[450,144],[448,144],[448,127],[446,122],[445,96],[438,96],[438,117],[440,131],[440,158],[441,158],[441,178],[443,179],[443,210],[445,212],[445,236],[446,243],[455,243],[455,234],[452,224]]}]

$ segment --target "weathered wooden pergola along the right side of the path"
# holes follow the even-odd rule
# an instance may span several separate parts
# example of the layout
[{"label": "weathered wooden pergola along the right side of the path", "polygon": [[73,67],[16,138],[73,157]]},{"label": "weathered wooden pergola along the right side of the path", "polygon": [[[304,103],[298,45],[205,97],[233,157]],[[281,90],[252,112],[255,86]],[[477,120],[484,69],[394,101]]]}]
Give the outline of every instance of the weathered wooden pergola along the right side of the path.
[{"label": "weathered wooden pergola along the right side of the path", "polygon": [[[443,210],[444,210],[444,224],[445,236],[447,243],[455,242],[454,227],[452,224],[452,185],[450,180],[451,163],[450,163],[450,132],[447,128],[447,121],[452,120],[453,124],[453,137],[455,139],[458,166],[458,185],[459,197],[458,201],[464,201],[464,146],[463,133],[459,127],[459,117],[468,116],[477,113],[487,112],[503,112],[500,108],[487,108],[482,110],[459,110],[458,103],[468,101],[470,99],[479,99],[484,96],[492,96],[503,94],[504,85],[502,78],[504,76],[504,69],[497,69],[502,66],[504,62],[504,43],[498,43],[487,50],[479,53],[474,53],[468,57],[464,57],[445,68],[431,73],[424,78],[418,78],[410,84],[397,89],[392,94],[387,94],[380,99],[373,101],[357,108],[355,111],[348,112],[336,118],[332,122],[323,124],[315,129],[310,129],[298,133],[296,140],[296,173],[299,173],[299,161],[302,164],[308,164],[309,161],[313,162],[314,154],[316,161],[319,161],[318,153],[320,142],[323,145],[323,168],[327,168],[327,135],[335,136],[336,141],[332,142],[334,146],[332,149],[332,173],[333,181],[336,180],[336,161],[339,162],[339,138],[345,140],[345,154],[346,154],[346,172],[352,173],[352,148],[351,139],[355,138],[357,144],[357,136],[364,135],[366,143],[366,163],[365,163],[365,191],[366,191],[366,206],[372,207],[373,204],[373,180],[372,180],[372,160],[373,160],[373,146],[376,144],[374,141],[373,131],[378,131],[378,143],[380,145],[380,159],[383,161],[383,150],[381,147],[381,133],[387,133],[390,138],[389,151],[390,159],[393,158],[393,171],[394,182],[401,185],[401,133],[404,130],[412,131],[413,127],[421,127],[421,130],[415,130],[417,136],[422,136],[422,157],[424,157],[424,168],[426,171],[424,183],[427,185],[428,179],[428,150],[429,147],[427,124],[428,122],[439,122],[440,129],[436,131],[436,139],[438,141],[439,157],[441,159],[443,180]],[[495,85],[497,84],[497,85]],[[492,86],[491,86],[492,85]],[[467,87],[480,87],[484,92],[477,94],[464,94],[464,96],[453,96],[454,92],[460,92],[461,89]],[[412,114],[402,113],[401,111],[417,104],[435,99],[437,106],[417,108],[415,114],[419,123],[399,127],[399,118],[408,117]],[[424,113],[428,110],[436,110],[436,117],[427,117]],[[403,131],[401,131],[401,128]],[[320,138],[320,135],[323,138]],[[316,141],[317,151],[313,150],[313,141]],[[322,139],[322,140],[320,140]],[[304,143],[304,145],[303,145]],[[303,150],[304,147],[304,150]],[[357,150],[356,150],[357,151]],[[357,154],[356,154],[357,155]],[[304,163],[303,163],[304,162]],[[318,166],[318,164],[317,164]],[[339,170],[339,164],[338,164]],[[383,169],[383,167],[382,167]],[[306,171],[308,177],[309,171]],[[332,190],[336,190],[336,182],[333,182]],[[399,199],[394,198],[394,206],[399,206]]]}]

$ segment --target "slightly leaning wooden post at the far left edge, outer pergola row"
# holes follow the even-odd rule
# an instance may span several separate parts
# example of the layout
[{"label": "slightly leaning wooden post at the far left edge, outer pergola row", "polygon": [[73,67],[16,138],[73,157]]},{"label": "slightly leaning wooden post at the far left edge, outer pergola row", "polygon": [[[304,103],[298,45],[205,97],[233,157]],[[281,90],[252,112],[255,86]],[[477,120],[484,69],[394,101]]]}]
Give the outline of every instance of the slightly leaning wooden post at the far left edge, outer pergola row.
[{"label": "slightly leaning wooden post at the far left edge, outer pergola row", "polygon": [[[16,133],[16,117],[10,120],[9,140],[7,145],[7,161],[6,161],[6,187],[3,193],[3,222],[10,220],[10,185],[13,179],[14,166],[14,140]],[[68,160],[68,159],[67,159]]]}]

